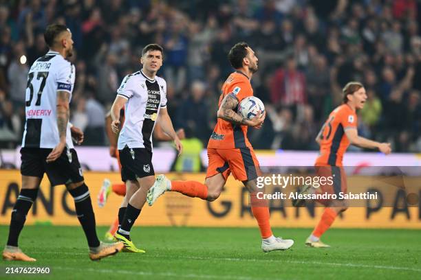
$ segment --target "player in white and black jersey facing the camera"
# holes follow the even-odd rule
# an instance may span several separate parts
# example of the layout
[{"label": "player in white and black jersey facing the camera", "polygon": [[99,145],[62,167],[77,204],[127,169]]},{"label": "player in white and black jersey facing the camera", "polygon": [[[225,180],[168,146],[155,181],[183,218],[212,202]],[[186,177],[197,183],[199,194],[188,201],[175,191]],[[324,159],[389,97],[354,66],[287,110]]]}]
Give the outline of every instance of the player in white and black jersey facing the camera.
[{"label": "player in white and black jersey facing the camera", "polygon": [[[156,73],[162,66],[164,52],[160,45],[151,44],[142,49],[140,71],[127,75],[117,91],[111,107],[111,128],[120,132],[120,110],[125,106],[125,126],[118,137],[121,178],[126,183],[126,196],[120,208],[122,222],[114,237],[125,244],[125,250],[144,253],[131,242],[130,230],[140,214],[147,192],[155,182],[152,165],[152,132],[160,115],[162,130],[173,139],[175,148],[182,152],[182,144],[174,131],[166,109],[166,82]],[[123,207],[122,207],[123,208]]]}]

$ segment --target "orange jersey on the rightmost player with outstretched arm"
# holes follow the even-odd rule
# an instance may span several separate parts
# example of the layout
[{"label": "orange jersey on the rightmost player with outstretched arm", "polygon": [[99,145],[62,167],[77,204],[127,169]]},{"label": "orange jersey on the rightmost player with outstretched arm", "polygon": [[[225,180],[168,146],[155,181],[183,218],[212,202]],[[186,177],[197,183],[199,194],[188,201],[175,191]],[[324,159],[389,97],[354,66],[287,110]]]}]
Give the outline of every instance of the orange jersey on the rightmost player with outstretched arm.
[{"label": "orange jersey on the rightmost player with outstretched arm", "polygon": [[347,104],[333,110],[321,129],[320,155],[316,165],[342,166],[343,154],[349,146],[345,130],[356,127],[356,113]]}]

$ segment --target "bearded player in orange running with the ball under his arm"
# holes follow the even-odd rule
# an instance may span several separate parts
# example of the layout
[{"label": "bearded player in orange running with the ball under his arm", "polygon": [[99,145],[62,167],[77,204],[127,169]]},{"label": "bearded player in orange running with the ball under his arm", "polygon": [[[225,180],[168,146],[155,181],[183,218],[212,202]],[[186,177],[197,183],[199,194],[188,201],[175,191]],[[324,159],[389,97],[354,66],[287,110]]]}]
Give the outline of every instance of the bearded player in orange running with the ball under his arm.
[{"label": "bearded player in orange running with the ball under his arm", "polygon": [[267,202],[257,199],[256,179],[260,174],[259,162],[247,139],[248,126],[261,128],[266,113],[261,112],[251,120],[237,113],[241,100],[253,95],[250,79],[257,71],[258,59],[246,43],[237,43],[230,49],[228,60],[235,72],[229,75],[219,97],[217,124],[208,143],[209,165],[205,183],[170,181],[164,175],[160,175],[150,189],[147,201],[149,205],[153,205],[164,191],[178,191],[186,196],[213,201],[219,197],[226,179],[232,173],[234,178],[241,180],[250,191],[252,213],[261,231],[262,250],[285,250],[290,248],[294,241],[283,240],[272,234]]}]

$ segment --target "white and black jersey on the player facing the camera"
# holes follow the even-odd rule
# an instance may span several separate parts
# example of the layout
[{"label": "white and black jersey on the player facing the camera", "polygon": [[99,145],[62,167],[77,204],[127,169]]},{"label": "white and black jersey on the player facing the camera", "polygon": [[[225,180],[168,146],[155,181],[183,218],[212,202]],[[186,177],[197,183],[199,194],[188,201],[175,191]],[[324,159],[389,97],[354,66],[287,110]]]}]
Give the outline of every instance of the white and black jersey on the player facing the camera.
[{"label": "white and black jersey on the player facing the camera", "polygon": [[129,148],[152,150],[152,132],[160,108],[166,107],[166,82],[155,76],[151,80],[140,70],[127,75],[117,95],[127,99],[125,124],[118,137],[118,150]]}]

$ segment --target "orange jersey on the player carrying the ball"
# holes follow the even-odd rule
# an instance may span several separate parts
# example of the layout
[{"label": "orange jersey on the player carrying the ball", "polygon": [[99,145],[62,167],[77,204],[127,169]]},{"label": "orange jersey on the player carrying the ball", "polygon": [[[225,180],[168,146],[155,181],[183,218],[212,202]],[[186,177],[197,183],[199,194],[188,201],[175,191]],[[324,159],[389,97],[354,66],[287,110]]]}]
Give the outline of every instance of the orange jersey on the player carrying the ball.
[{"label": "orange jersey on the player carrying the ball", "polygon": [[[222,93],[219,97],[218,107],[226,95],[232,95],[241,102],[246,97],[253,96],[253,89],[248,77],[240,71],[235,71],[229,75],[222,86]],[[237,112],[237,108],[235,109]],[[233,149],[233,148],[251,148],[247,139],[247,126],[237,126],[229,121],[218,118],[217,124],[210,136],[208,148],[215,149]]]}]

